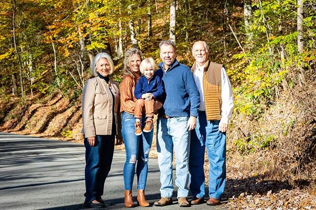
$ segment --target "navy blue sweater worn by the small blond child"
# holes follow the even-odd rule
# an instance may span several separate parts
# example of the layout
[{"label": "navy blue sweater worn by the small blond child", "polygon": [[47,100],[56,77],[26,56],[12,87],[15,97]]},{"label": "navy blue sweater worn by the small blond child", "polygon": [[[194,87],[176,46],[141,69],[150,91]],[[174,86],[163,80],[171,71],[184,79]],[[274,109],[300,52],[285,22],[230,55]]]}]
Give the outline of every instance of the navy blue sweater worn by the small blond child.
[{"label": "navy blue sweater worn by the small blond child", "polygon": [[141,76],[134,90],[136,99],[141,99],[145,93],[151,93],[159,101],[162,99],[163,92],[162,81],[156,73],[150,79],[147,79],[145,75]]}]

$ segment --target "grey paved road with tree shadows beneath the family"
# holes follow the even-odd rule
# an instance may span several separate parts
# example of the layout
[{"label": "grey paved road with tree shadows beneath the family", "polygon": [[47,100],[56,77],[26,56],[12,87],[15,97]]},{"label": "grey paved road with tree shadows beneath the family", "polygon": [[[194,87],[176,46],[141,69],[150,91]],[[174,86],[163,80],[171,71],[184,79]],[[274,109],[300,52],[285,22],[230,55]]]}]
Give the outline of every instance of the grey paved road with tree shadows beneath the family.
[{"label": "grey paved road with tree shadows beneath the family", "polygon": [[[125,152],[115,150],[103,196],[113,201],[115,205],[106,209],[124,208],[122,174],[124,158]],[[84,166],[82,144],[0,133],[0,209],[84,209]],[[150,159],[146,198],[151,206],[160,198],[159,186],[157,159]],[[133,189],[136,188],[134,179]],[[134,201],[136,201],[135,191]],[[149,209],[180,209],[175,194],[173,201],[174,205]],[[190,209],[224,208],[225,205],[210,207],[203,204]]]}]

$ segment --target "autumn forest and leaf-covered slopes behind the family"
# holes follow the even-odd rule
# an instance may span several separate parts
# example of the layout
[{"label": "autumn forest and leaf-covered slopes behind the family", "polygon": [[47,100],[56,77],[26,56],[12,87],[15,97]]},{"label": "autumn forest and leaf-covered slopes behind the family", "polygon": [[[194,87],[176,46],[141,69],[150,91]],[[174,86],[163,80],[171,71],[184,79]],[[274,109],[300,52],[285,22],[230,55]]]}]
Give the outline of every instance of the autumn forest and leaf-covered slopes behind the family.
[{"label": "autumn forest and leaf-covered slopes behind the family", "polygon": [[206,41],[230,77],[225,205],[316,209],[315,0],[2,0],[0,130],[82,142],[94,55],[120,82],[126,49],[158,63],[169,38],[188,66]]}]

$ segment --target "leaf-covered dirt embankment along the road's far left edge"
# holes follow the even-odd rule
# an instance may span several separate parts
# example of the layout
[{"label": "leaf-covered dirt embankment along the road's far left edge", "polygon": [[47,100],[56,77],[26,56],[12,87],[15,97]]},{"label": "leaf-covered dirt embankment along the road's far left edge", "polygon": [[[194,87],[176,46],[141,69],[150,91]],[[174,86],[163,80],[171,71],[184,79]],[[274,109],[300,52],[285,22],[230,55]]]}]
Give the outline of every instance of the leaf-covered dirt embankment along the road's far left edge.
[{"label": "leaf-covered dirt embankment along the road's far left edge", "polygon": [[36,95],[25,102],[0,102],[0,130],[37,137],[82,141],[81,99]]}]

